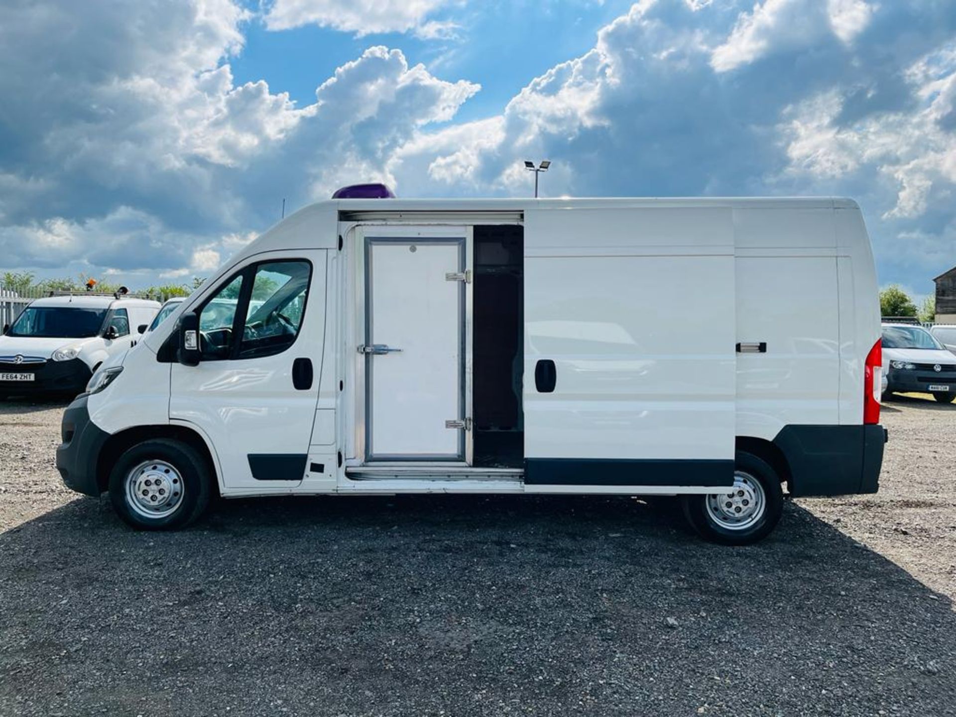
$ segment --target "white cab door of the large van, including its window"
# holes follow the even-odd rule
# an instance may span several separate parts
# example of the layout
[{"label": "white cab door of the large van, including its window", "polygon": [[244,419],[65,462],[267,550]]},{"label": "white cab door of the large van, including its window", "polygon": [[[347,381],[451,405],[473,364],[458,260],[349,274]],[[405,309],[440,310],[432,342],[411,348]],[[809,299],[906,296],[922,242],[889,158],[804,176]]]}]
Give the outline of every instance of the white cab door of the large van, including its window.
[{"label": "white cab door of the large van, including its window", "polygon": [[200,429],[224,487],[303,479],[325,335],[326,251],[256,254],[198,307],[202,357],[174,363],[169,418]]}]

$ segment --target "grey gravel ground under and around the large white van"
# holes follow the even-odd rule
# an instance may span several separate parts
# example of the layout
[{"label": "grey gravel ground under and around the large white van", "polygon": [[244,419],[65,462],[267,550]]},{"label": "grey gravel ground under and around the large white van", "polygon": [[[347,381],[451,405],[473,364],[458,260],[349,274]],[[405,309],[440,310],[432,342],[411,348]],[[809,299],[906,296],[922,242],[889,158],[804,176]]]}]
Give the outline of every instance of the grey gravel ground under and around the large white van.
[{"label": "grey gravel ground under and around the large white van", "polygon": [[760,545],[666,502],[327,497],[133,532],[0,403],[0,714],[956,714],[956,406]]}]

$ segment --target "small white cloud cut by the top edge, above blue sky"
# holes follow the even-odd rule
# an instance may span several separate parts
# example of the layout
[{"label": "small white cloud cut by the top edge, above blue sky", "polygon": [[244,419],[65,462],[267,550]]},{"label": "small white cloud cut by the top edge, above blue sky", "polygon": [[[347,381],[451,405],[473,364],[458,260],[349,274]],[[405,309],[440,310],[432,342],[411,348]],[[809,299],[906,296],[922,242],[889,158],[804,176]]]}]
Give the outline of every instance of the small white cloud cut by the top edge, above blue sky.
[{"label": "small white cloud cut by the top edge, above blue sky", "polygon": [[270,30],[320,25],[359,36],[419,31],[423,36],[447,33],[447,22],[426,18],[448,0],[274,0],[266,13]]}]

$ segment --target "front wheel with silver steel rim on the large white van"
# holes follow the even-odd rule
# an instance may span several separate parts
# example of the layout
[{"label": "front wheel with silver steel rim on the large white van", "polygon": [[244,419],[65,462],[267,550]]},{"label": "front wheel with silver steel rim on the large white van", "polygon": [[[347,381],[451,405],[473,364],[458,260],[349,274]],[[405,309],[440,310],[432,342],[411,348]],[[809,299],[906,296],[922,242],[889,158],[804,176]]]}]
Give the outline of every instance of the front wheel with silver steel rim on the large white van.
[{"label": "front wheel with silver steel rim on the large white van", "polygon": [[110,472],[110,502],[137,530],[174,531],[206,511],[212,480],[206,459],[191,445],[143,441],[126,450]]}]

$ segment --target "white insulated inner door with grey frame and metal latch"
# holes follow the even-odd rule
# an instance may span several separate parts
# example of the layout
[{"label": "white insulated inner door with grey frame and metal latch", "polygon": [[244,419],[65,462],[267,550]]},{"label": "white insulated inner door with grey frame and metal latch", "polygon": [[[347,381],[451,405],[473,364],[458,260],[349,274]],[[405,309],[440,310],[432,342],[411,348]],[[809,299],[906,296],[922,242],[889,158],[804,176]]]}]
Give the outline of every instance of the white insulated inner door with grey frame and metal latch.
[{"label": "white insulated inner door with grey frame and metal latch", "polygon": [[465,237],[365,240],[366,459],[465,460]]}]

